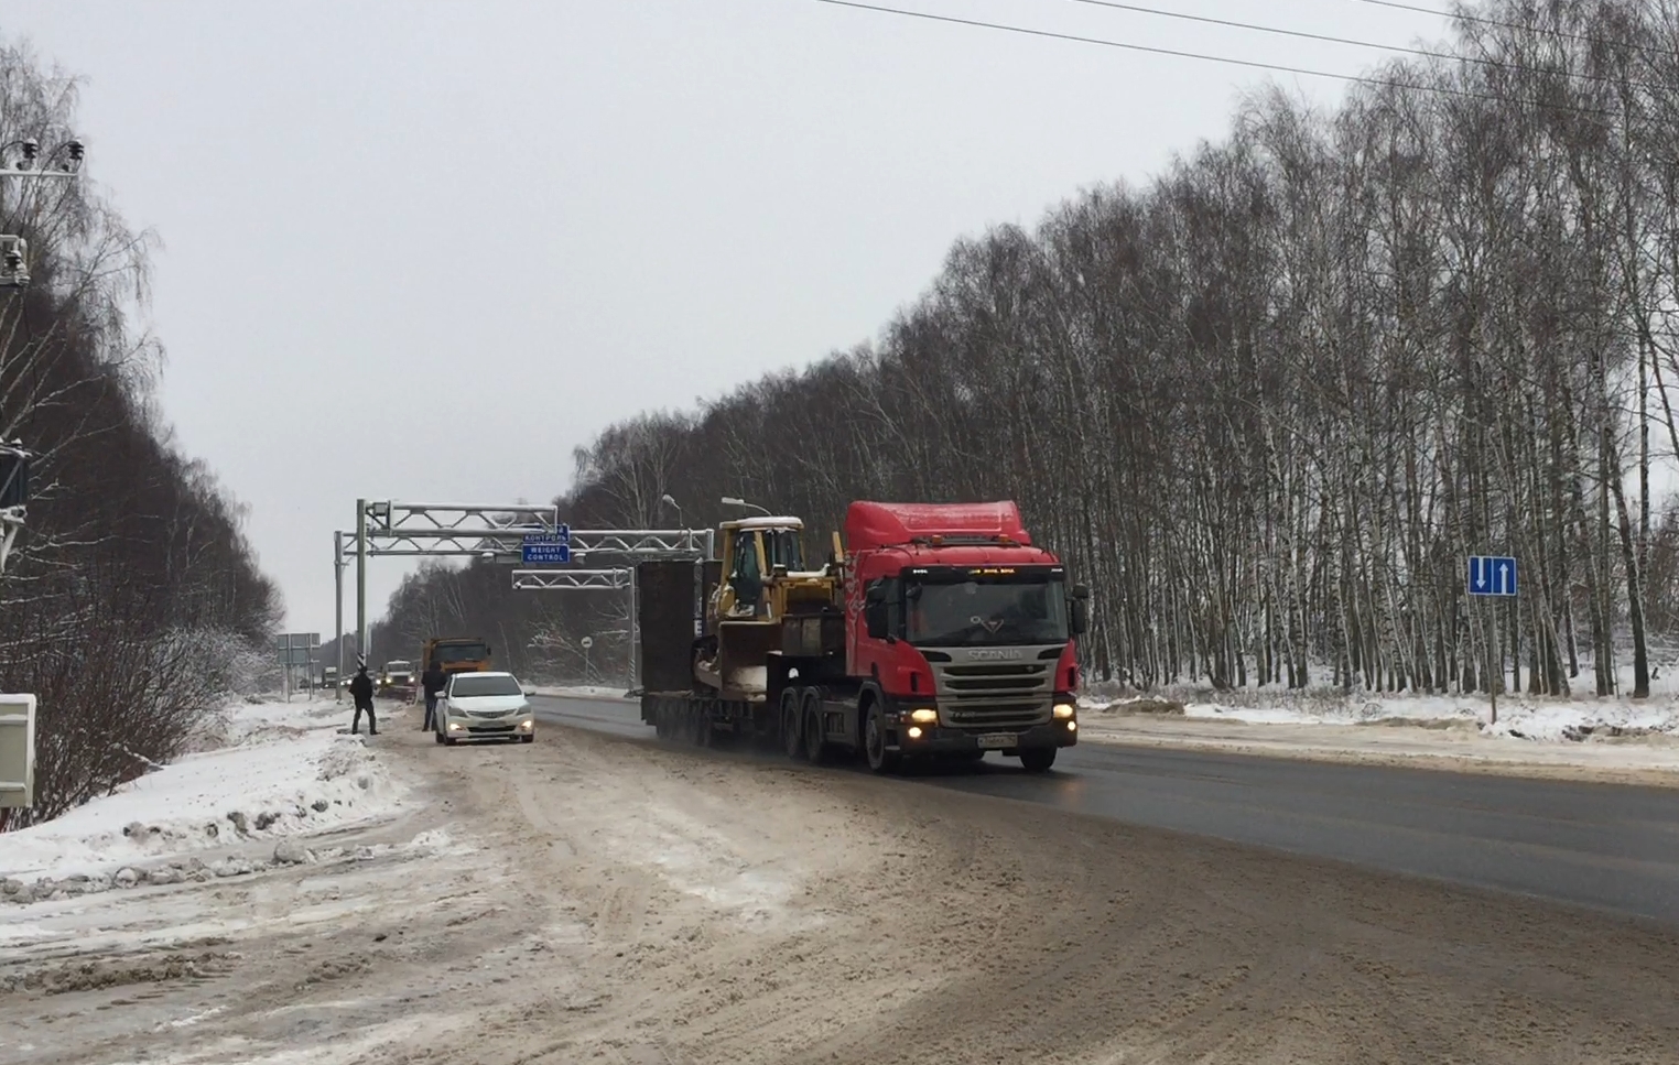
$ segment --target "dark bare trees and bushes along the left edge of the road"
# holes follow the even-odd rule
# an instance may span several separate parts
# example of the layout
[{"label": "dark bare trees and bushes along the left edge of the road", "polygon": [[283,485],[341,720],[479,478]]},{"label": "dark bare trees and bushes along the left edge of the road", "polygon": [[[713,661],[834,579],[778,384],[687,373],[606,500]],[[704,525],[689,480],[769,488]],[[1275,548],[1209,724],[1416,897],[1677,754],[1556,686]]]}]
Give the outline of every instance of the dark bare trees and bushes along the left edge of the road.
[{"label": "dark bare trees and bushes along the left edge of the road", "polygon": [[[76,131],[76,81],[0,42],[0,144]],[[47,820],[168,761],[269,657],[279,594],[238,503],[181,453],[154,403],[163,349],[138,329],[149,233],[86,181],[0,181],[29,288],[0,288],[0,439],[35,453],[29,522],[0,575],[0,691],[40,699]]]}]

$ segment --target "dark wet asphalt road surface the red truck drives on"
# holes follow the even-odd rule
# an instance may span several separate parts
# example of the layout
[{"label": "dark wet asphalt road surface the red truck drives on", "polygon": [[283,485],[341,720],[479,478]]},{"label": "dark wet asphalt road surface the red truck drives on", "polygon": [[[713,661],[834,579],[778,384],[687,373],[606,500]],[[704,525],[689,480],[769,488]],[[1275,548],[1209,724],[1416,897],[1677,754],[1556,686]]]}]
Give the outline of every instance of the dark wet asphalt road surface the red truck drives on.
[{"label": "dark wet asphalt road surface the red truck drives on", "polygon": [[[536,698],[537,716],[651,740],[628,701]],[[1679,924],[1679,790],[1558,783],[1085,743],[922,777],[1123,822]]]}]

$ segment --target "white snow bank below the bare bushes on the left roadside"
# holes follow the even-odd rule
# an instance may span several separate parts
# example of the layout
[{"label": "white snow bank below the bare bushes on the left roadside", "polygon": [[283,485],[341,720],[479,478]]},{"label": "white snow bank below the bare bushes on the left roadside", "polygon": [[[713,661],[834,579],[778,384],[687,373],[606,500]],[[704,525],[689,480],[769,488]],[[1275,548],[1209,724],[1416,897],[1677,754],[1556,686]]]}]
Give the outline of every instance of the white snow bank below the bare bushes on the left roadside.
[{"label": "white snow bank below the bare bushes on the left roadside", "polygon": [[331,699],[237,704],[228,746],[188,755],[44,825],[0,834],[0,879],[92,874],[388,817],[406,787],[339,735]]}]

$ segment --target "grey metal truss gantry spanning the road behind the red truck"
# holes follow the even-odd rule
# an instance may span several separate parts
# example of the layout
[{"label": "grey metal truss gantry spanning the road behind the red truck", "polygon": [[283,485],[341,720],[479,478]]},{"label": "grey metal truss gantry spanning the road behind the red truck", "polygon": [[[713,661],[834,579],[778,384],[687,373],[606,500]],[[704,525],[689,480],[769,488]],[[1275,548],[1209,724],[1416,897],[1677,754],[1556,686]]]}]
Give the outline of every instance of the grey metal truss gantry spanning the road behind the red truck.
[{"label": "grey metal truss gantry spanning the road behind the red truck", "polygon": [[[356,647],[368,657],[368,558],[369,557],[475,557],[504,565],[524,562],[524,538],[552,537],[561,530],[554,505],[531,503],[400,503],[395,500],[356,500],[354,532],[332,533],[332,574],[336,585],[337,673],[344,676],[344,567],[356,564]],[[715,532],[710,528],[599,528],[568,530],[573,560],[593,557],[608,560],[710,558]],[[621,572],[625,584],[591,584],[604,577],[584,574]],[[526,574],[526,585],[519,584]],[[569,574],[571,577],[559,577]],[[569,584],[568,584],[569,580]],[[581,582],[579,582],[581,580]],[[611,590],[628,587],[630,626],[635,629],[635,570],[515,570],[514,587],[532,590]],[[635,636],[631,634],[631,659]],[[631,679],[635,669],[631,668]],[[341,698],[334,691],[334,698]]]}]

